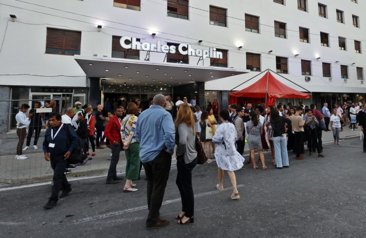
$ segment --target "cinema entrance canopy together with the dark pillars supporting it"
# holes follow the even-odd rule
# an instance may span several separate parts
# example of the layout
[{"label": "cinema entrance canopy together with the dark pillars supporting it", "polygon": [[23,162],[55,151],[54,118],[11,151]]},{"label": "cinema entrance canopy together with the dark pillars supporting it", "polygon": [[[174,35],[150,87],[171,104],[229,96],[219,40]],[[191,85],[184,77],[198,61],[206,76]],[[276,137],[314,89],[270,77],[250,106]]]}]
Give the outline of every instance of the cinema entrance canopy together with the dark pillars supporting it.
[{"label": "cinema entrance canopy together with the dark pillars supporting it", "polygon": [[[142,60],[82,56],[75,60],[89,78],[89,102],[100,103],[103,93],[172,95],[192,98],[204,103],[207,81],[249,73],[234,68],[157,63]],[[228,98],[227,98],[228,99]]]}]

